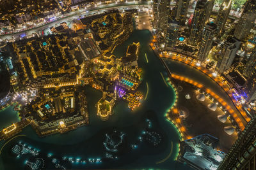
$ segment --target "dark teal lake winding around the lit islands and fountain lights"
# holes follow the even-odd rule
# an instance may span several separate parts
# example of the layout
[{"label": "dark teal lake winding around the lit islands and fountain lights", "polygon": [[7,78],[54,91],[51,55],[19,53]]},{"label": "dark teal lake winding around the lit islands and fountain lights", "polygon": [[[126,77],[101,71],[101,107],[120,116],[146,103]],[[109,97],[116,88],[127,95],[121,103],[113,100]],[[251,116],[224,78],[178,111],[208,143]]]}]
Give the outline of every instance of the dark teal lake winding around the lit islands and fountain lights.
[{"label": "dark teal lake winding around the lit islands and fountain lights", "polygon": [[[109,120],[102,122],[96,115],[95,104],[99,101],[102,93],[92,89],[91,87],[84,87],[87,93],[88,110],[90,114],[90,125],[70,131],[65,134],[56,134],[47,136],[45,138],[38,138],[33,129],[26,127],[20,134],[26,136],[19,136],[9,143],[7,143],[0,155],[0,169],[28,169],[24,162],[30,155],[24,155],[19,159],[14,157],[10,152],[11,148],[19,141],[28,143],[33,148],[37,148],[42,152],[42,155],[52,153],[52,157],[60,159],[61,157],[73,158],[104,158],[106,150],[104,150],[102,142],[105,134],[116,129],[124,132],[125,143],[130,146],[134,143],[138,144],[138,148],[129,150],[118,156],[118,159],[111,161],[104,161],[100,164],[68,164],[68,168],[72,169],[92,169],[92,168],[120,168],[120,169],[189,169],[184,164],[176,162],[174,159],[179,153],[179,139],[180,135],[177,129],[170,124],[165,118],[164,114],[172,106],[175,100],[175,94],[170,86],[166,86],[160,73],[163,73],[167,78],[167,73],[157,59],[154,52],[149,47],[151,35],[149,31],[134,31],[127,41],[121,46],[117,46],[114,54],[117,57],[125,55],[127,46],[133,41],[140,41],[140,56],[139,66],[143,69],[143,81],[139,90],[144,94],[147,93],[147,99],[143,101],[140,108],[130,111],[127,108],[127,103],[120,101],[114,108],[114,113]],[[145,59],[147,53],[148,63]],[[3,111],[9,112],[8,110]],[[150,118],[152,121],[152,129],[161,134],[163,140],[157,147],[147,145],[147,143],[138,142],[141,132],[145,129],[145,119]],[[0,124],[1,125],[1,124]],[[172,145],[173,144],[173,145]],[[4,145],[1,141],[0,147]],[[163,163],[157,164],[160,160],[166,158],[173,146],[170,157]],[[44,154],[43,154],[44,153]],[[47,168],[54,168],[51,160],[44,158],[45,166]]]}]

